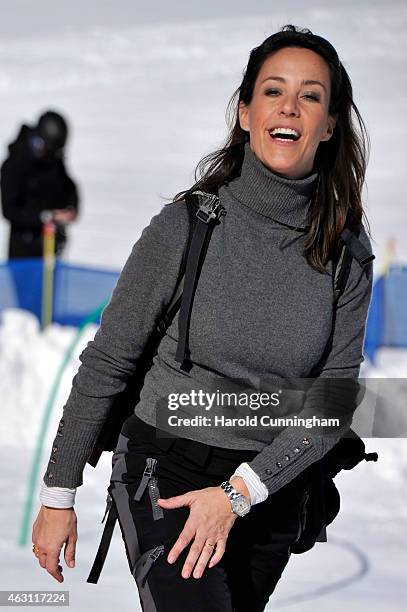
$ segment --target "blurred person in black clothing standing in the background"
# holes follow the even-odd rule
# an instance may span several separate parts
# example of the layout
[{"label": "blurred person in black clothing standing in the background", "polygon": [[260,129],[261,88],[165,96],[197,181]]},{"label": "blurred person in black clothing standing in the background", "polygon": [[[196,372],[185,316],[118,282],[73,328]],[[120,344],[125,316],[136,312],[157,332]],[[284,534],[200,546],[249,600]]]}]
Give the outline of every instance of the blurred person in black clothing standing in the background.
[{"label": "blurred person in black clothing standing in the background", "polygon": [[55,223],[55,253],[61,255],[65,226],[78,216],[79,197],[64,164],[66,120],[54,111],[42,114],[35,127],[21,127],[1,167],[1,203],[10,222],[8,256],[41,257],[43,223]]}]

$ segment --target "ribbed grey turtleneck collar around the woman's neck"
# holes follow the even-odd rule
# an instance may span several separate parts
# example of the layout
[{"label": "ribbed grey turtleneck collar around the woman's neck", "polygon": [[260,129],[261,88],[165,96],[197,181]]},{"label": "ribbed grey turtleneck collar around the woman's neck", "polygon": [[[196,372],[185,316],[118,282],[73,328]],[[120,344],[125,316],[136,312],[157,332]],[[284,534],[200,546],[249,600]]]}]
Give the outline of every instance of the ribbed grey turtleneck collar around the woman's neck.
[{"label": "ribbed grey turtleneck collar around the woman's neck", "polygon": [[248,208],[293,226],[306,227],[306,217],[318,173],[302,179],[289,179],[272,172],[254,154],[247,142],[242,172],[227,185],[232,195]]}]

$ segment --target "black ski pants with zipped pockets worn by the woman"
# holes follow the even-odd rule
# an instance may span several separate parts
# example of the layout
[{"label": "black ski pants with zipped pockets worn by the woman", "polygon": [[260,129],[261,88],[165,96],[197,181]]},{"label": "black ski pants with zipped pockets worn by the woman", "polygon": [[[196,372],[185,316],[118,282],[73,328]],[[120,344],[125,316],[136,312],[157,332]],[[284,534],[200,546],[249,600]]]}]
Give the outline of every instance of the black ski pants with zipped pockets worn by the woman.
[{"label": "black ski pants with zipped pockets worn by the woman", "polygon": [[301,531],[308,472],[238,517],[221,561],[206,567],[201,578],[181,576],[189,546],[175,563],[167,561],[189,508],[164,510],[156,504],[159,497],[217,486],[255,455],[184,438],[160,439],[136,415],[127,419],[113,456],[109,493],[144,612],[265,609]]}]

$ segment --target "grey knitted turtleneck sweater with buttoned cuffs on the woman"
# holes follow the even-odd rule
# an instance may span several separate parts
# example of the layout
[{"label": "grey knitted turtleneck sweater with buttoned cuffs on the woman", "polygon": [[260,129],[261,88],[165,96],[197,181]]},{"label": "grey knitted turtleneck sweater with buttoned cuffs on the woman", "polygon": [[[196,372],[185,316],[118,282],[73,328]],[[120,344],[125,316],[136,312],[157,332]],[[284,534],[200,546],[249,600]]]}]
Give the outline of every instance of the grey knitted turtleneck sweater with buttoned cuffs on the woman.
[{"label": "grey knitted turtleneck sweater with buttoned cuffs on the woman", "polygon": [[[168,400],[171,394],[193,390],[274,393],[287,379],[307,379],[309,384],[283,389],[278,416],[320,413],[321,398],[328,402],[328,412],[344,410],[341,393],[327,395],[318,384],[311,385],[309,377],[315,377],[315,383],[358,378],[373,270],[371,264],[362,270],[352,262],[334,312],[331,275],[308,265],[303,256],[305,231],[294,229],[304,230],[316,179],[317,174],[282,178],[246,144],[241,176],[219,190],[226,215],[213,231],[195,294],[189,334],[192,368],[183,371],[174,359],[176,315],[146,375],[135,407],[139,418],[171,430],[169,416],[251,417],[254,411],[237,403],[214,405],[209,411],[189,401],[169,410]],[[82,484],[84,466],[110,406],[137,371],[157,317],[171,299],[188,223],[185,203],[171,202],[136,242],[95,339],[80,357],[54,441],[57,451],[51,453],[44,475],[46,485]],[[360,239],[371,252],[364,228]],[[273,414],[272,407],[268,411]],[[214,446],[258,451],[249,466],[271,494],[321,458],[341,431],[313,436],[299,428],[236,422],[184,426],[173,433]]]}]

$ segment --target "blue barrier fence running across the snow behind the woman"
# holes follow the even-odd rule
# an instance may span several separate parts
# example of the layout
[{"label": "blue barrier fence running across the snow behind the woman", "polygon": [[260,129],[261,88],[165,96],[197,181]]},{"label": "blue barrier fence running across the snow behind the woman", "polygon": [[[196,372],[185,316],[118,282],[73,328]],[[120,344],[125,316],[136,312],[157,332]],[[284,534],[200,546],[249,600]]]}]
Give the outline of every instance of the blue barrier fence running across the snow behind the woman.
[{"label": "blue barrier fence running across the snow behind the woman", "polygon": [[[23,308],[41,321],[42,269],[40,259],[0,264],[0,313],[5,308]],[[52,321],[79,326],[90,312],[109,299],[118,277],[118,272],[57,260]],[[406,266],[390,266],[386,275],[374,283],[364,346],[372,363],[381,346],[407,348]]]}]

